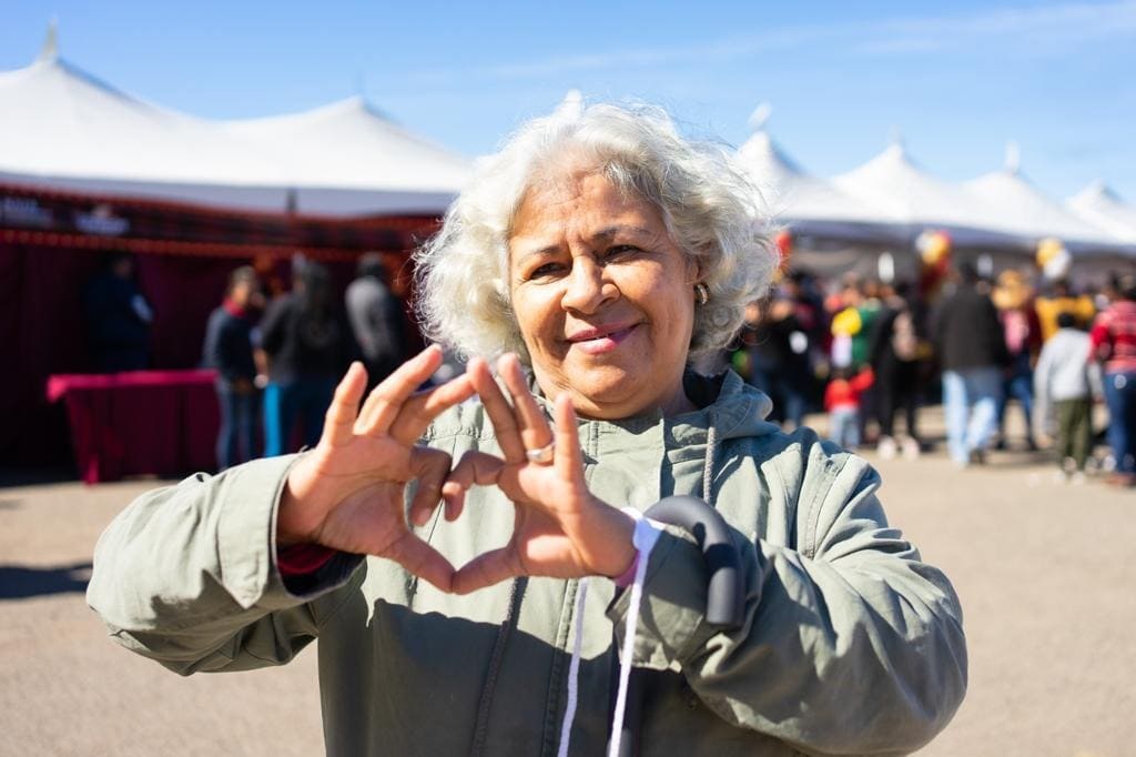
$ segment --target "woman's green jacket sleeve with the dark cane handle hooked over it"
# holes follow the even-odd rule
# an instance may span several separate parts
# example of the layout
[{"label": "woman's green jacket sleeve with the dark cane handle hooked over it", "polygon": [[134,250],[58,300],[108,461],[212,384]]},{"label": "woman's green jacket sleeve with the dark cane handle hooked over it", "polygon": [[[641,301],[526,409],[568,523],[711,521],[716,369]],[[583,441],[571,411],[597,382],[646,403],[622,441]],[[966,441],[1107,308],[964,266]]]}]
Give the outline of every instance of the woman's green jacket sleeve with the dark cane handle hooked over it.
[{"label": "woman's green jacket sleeve with the dark cane handle hooked over it", "polygon": [[[961,608],[947,579],[887,525],[878,475],[813,444],[818,482],[797,501],[795,548],[735,531],[744,623],[705,623],[705,567],[668,531],[652,551],[635,664],[680,669],[728,723],[813,754],[904,754],[962,701]],[[629,592],[609,608],[624,633]]]}]

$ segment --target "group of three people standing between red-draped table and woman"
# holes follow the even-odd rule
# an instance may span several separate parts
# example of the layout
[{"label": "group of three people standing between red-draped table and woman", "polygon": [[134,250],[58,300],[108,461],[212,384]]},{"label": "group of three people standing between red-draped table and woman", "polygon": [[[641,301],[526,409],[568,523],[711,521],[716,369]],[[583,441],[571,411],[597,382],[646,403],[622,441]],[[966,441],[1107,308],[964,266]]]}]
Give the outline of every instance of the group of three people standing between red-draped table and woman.
[{"label": "group of three people standing between red-draped table and woman", "polygon": [[364,255],[341,303],[327,268],[296,259],[292,290],[266,303],[251,267],[232,273],[202,349],[217,371],[219,469],[315,446],[351,360],[374,385],[407,359],[406,316],[384,278],[381,256]]}]

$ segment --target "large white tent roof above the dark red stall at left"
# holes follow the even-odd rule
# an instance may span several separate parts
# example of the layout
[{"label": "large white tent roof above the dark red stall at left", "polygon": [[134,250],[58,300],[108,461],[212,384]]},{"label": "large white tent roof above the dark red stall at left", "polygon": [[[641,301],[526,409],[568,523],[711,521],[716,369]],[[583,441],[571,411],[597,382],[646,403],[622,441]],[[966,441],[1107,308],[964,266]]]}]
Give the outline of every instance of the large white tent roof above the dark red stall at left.
[{"label": "large white tent roof above the dark red stall at left", "polygon": [[244,210],[436,214],[463,167],[358,100],[240,124],[160,108],[60,59],[53,33],[31,66],[0,73],[0,182]]}]

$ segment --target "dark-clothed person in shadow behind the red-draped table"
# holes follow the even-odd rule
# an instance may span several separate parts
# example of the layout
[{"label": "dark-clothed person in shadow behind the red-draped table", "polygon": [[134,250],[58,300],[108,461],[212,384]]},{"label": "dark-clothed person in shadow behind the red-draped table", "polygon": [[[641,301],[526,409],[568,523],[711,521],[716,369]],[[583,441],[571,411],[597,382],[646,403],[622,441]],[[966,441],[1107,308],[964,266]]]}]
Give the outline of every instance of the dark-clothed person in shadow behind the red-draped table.
[{"label": "dark-clothed person in shadow behind the red-draped table", "polygon": [[94,369],[99,373],[150,367],[153,310],[134,280],[134,256],[115,252],[91,280],[83,297]]}]

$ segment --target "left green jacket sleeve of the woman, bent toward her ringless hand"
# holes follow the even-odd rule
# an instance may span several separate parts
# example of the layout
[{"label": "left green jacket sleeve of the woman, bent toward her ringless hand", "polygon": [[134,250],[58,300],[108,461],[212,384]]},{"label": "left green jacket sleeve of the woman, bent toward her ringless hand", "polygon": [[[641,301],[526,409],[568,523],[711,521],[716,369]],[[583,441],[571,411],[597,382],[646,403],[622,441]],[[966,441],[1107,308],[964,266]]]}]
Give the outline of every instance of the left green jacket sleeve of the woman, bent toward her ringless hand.
[{"label": "left green jacket sleeve of the woman, bent toward her ringless hand", "polygon": [[279,665],[315,639],[362,559],[337,555],[302,596],[284,587],[275,516],[294,459],[199,473],[123,510],[99,539],[86,593],[110,635],[182,675]]}]

